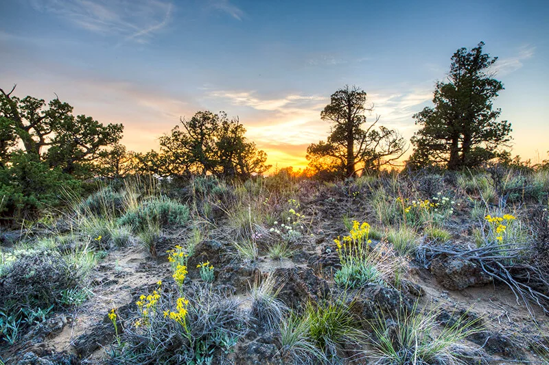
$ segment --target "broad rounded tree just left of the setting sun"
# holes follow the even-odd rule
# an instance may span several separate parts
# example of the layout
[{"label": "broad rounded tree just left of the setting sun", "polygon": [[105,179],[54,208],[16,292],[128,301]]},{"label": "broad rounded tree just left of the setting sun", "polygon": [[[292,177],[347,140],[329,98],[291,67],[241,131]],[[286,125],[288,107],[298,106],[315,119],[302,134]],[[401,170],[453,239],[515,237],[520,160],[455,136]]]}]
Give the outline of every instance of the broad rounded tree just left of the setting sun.
[{"label": "broad rounded tree just left of the setting sun", "polygon": [[[160,138],[160,153],[151,151],[137,158],[159,175],[248,177],[264,173],[270,168],[265,164],[267,155],[248,142],[245,133],[240,121],[229,120],[224,112],[197,112]],[[154,171],[154,161],[161,171]]]}]

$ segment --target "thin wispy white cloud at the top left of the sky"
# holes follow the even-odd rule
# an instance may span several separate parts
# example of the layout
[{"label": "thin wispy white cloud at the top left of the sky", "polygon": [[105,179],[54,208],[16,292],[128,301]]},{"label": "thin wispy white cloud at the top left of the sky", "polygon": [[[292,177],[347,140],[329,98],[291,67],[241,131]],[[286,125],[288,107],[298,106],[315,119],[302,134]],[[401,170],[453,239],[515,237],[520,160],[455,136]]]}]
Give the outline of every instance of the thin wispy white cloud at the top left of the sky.
[{"label": "thin wispy white cloud at the top left of the sky", "polygon": [[90,32],[135,42],[147,42],[165,27],[173,10],[165,0],[30,0],[30,4]]}]

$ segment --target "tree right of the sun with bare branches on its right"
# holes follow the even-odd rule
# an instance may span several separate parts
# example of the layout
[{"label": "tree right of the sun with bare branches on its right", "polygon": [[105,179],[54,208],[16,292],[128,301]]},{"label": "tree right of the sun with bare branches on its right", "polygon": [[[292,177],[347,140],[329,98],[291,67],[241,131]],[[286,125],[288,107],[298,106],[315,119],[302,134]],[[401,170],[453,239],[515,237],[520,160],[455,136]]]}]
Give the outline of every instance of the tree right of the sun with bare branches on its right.
[{"label": "tree right of the sun with bare branches on its right", "polygon": [[345,86],[331,95],[330,103],[320,118],[332,124],[326,142],[307,148],[309,168],[314,172],[353,177],[364,169],[379,170],[406,152],[406,140],[398,131],[383,126],[376,128],[379,117],[366,129],[366,92],[356,86]]}]

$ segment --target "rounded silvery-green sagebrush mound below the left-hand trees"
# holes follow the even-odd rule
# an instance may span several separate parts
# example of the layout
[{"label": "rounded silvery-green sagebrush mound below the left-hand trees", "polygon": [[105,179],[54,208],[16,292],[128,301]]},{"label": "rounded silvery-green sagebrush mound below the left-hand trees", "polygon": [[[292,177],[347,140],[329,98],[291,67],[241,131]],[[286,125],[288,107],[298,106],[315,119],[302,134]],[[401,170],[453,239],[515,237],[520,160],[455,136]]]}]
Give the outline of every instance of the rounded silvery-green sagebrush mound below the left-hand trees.
[{"label": "rounded silvery-green sagebrush mound below the left-hand trees", "polygon": [[167,197],[151,198],[121,216],[118,225],[129,225],[135,231],[147,229],[151,223],[160,227],[185,225],[189,221],[189,207]]}]

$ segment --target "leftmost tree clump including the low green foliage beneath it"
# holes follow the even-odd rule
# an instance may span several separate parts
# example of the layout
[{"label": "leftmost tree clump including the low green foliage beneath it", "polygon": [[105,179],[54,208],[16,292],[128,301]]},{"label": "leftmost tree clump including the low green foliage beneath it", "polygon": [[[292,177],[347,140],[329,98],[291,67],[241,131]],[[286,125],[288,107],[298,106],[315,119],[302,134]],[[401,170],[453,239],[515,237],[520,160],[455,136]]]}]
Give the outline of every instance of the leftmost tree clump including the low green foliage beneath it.
[{"label": "leftmost tree clump including the low green foliage beneath it", "polygon": [[65,190],[78,194],[75,177],[91,175],[102,149],[123,129],[73,116],[59,99],[20,99],[14,90],[0,88],[0,222],[58,205]]}]

